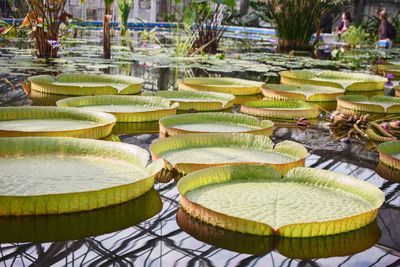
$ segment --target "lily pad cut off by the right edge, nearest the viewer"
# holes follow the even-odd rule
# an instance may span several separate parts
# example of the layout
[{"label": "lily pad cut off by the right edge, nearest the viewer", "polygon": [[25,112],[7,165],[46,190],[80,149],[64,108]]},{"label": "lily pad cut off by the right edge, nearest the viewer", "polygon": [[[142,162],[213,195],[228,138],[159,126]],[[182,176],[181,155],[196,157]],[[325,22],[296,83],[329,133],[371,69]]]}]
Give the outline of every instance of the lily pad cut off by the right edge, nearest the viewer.
[{"label": "lily pad cut off by the right edge, nearest the viewer", "polygon": [[378,151],[380,162],[397,170],[400,178],[400,141],[382,143],[378,146]]}]

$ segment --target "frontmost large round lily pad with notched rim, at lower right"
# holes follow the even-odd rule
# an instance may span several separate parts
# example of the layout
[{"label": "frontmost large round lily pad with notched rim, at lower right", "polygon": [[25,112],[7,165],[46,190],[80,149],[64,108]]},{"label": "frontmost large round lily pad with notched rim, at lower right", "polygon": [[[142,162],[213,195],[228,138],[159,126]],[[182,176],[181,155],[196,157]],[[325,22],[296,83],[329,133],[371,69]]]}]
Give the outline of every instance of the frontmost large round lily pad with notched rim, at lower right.
[{"label": "frontmost large round lily pad with notched rim, at lower right", "polygon": [[195,218],[254,235],[312,237],[359,229],[375,220],[384,194],[354,177],[270,166],[209,168],[178,182],[181,207]]}]

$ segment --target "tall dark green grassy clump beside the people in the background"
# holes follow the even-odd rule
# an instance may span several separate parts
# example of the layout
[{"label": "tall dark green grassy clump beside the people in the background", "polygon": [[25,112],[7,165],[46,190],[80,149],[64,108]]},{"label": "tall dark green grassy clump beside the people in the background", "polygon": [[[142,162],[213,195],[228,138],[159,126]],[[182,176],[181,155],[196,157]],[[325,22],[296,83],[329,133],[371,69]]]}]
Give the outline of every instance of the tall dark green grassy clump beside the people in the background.
[{"label": "tall dark green grassy clump beside the people in the background", "polygon": [[311,36],[319,39],[320,18],[328,12],[338,12],[350,0],[264,0],[268,17],[278,31],[278,50],[311,50]]}]

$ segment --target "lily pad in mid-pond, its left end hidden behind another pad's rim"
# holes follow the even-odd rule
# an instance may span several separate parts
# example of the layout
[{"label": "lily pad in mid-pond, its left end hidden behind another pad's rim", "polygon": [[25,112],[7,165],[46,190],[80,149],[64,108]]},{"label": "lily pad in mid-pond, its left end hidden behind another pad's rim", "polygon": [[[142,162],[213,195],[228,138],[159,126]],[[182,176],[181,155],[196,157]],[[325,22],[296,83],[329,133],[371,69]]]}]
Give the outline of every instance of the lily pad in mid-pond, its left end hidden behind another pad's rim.
[{"label": "lily pad in mid-pond, its left end hidden behind another pad's rim", "polygon": [[156,96],[179,103],[178,110],[216,111],[232,108],[235,96],[197,91],[158,91]]}]

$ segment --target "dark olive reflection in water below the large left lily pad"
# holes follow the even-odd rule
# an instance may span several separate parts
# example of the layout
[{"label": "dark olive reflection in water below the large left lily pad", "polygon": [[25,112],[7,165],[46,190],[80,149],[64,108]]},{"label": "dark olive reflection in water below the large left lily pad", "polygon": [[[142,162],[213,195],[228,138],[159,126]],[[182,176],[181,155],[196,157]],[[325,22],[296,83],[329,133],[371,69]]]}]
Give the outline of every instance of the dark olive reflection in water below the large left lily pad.
[{"label": "dark olive reflection in water below the large left lily pad", "polygon": [[156,190],[128,202],[86,212],[0,217],[0,242],[61,242],[99,236],[134,226],[162,208]]}]

